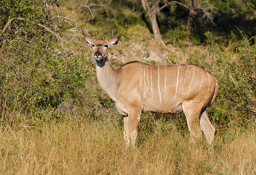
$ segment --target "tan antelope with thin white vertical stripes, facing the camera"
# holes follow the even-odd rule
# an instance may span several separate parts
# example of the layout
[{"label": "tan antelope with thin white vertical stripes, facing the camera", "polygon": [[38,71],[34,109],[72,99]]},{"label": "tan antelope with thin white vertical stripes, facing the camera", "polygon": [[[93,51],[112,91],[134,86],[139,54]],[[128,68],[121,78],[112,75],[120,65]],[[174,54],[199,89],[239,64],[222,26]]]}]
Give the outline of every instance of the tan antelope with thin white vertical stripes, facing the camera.
[{"label": "tan antelope with thin white vertical stripes, facing the camera", "polygon": [[123,34],[108,40],[94,40],[83,31],[82,34],[92,46],[100,86],[124,115],[126,147],[135,147],[141,113],[169,114],[182,109],[191,140],[201,137],[203,131],[208,144],[212,143],[215,128],[206,108],[216,98],[219,85],[209,71],[192,64],[151,65],[142,61],[114,69],[108,62],[107,49],[116,45]]}]

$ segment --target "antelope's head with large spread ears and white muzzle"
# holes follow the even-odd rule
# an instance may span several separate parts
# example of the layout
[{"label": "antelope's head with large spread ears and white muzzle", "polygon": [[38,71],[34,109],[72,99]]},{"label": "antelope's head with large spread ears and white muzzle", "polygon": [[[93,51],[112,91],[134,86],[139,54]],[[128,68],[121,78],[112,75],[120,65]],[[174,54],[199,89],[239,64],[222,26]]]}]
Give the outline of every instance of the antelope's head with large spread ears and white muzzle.
[{"label": "antelope's head with large spread ears and white muzzle", "polygon": [[112,45],[116,45],[120,39],[120,37],[123,35],[116,35],[108,40],[103,40],[103,39],[93,39],[91,36],[86,35],[83,31],[82,34],[84,35],[88,45],[92,46],[92,52],[93,52],[93,57],[97,61],[104,60],[105,58],[108,57],[107,54],[107,49],[108,47]]}]

